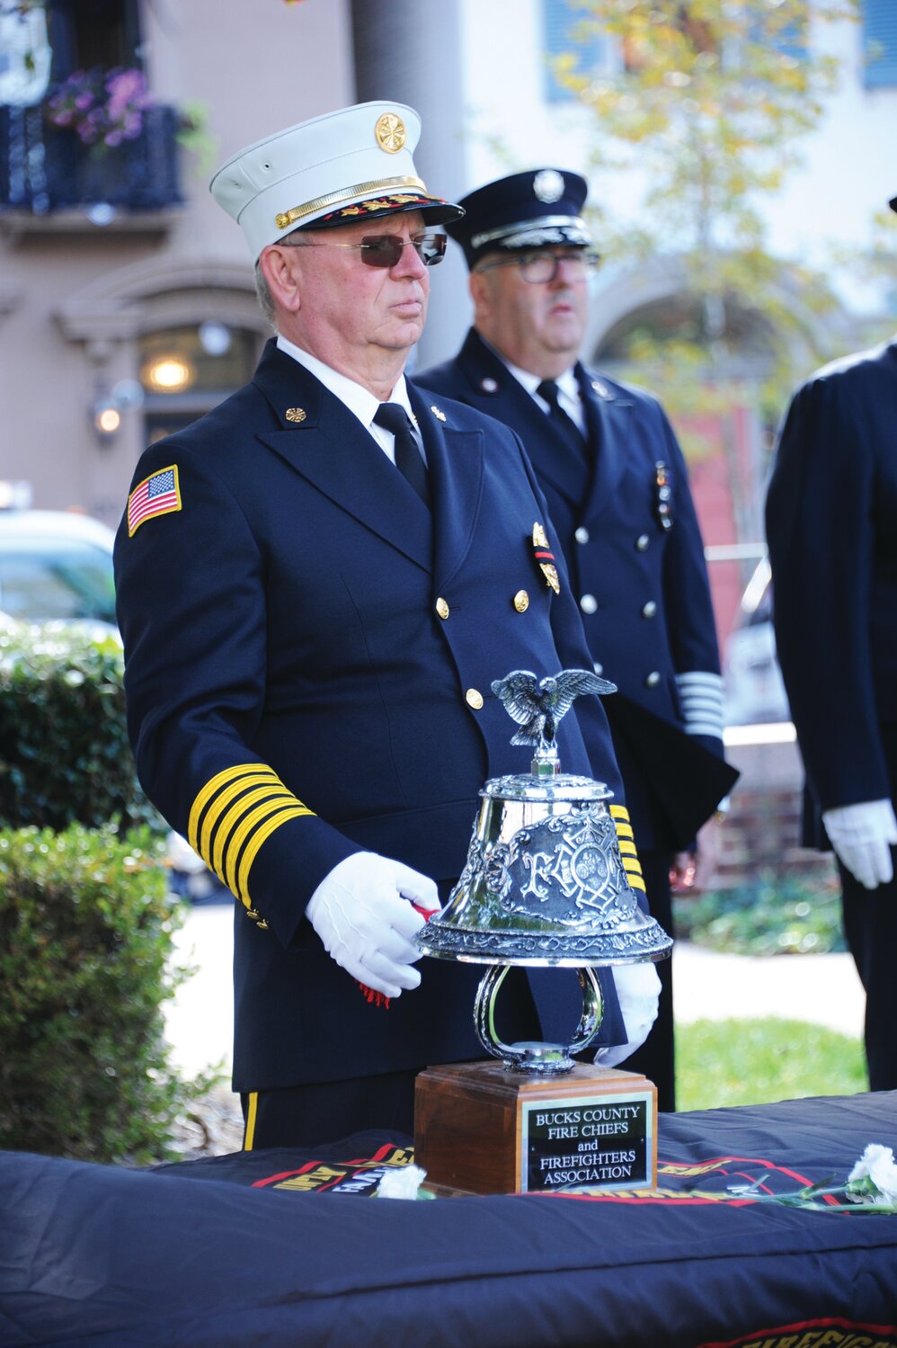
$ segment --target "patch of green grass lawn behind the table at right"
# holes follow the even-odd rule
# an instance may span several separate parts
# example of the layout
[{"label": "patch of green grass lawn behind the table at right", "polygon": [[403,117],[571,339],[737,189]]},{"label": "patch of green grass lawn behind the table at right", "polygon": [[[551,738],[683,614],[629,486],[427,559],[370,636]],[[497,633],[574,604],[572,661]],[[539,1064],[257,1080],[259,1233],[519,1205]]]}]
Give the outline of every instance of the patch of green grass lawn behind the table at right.
[{"label": "patch of green grass lawn behind the table at right", "polygon": [[714,1109],[867,1091],[859,1039],[804,1020],[676,1026],[676,1105]]}]

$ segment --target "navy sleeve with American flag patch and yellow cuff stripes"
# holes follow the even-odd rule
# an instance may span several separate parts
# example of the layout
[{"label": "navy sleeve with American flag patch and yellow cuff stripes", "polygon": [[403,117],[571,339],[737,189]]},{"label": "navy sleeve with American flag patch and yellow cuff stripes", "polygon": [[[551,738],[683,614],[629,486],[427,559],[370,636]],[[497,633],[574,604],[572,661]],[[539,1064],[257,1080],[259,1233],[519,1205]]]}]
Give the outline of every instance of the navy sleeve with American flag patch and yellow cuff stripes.
[{"label": "navy sleeve with American flag patch and yellow cuff stripes", "polygon": [[290,945],[317,884],[358,848],[252,751],[267,616],[246,516],[202,456],[166,441],[137,468],[114,563],[128,729],[147,795]]}]

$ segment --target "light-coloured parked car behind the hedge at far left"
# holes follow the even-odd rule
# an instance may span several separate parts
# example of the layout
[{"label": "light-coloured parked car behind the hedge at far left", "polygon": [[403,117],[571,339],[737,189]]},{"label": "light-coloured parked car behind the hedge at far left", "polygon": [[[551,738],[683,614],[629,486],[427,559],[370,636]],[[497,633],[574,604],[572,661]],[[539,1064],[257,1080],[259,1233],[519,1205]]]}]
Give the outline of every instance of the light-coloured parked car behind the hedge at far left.
[{"label": "light-coloured parked car behind the hedge at far left", "polygon": [[0,511],[0,612],[117,634],[113,541],[113,531],[88,515]]}]

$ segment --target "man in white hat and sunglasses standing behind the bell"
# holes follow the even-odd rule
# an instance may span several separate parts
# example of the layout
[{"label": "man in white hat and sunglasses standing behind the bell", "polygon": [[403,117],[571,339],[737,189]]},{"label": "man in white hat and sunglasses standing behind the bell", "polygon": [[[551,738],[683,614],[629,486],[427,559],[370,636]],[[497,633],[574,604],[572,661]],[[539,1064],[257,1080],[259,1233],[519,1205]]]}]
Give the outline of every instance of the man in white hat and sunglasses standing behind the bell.
[{"label": "man in white hat and sunglasses standing behind the bell", "polygon": [[[461,216],[418,177],[418,135],[411,108],[362,104],[214,177],[276,337],[251,384],[147,450],[117,537],[140,778],[238,900],[246,1147],[411,1132],[415,1073],[482,1055],[481,971],[422,975],[413,938],[479,787],[527,766],[492,681],[589,662],[563,563],[558,593],[540,569],[551,527],[520,441],[403,375],[438,226]],[[558,737],[629,832],[598,700]],[[504,1037],[540,1038],[551,1006],[513,973]],[[653,967],[618,987],[610,1061],[648,1033]]]}]

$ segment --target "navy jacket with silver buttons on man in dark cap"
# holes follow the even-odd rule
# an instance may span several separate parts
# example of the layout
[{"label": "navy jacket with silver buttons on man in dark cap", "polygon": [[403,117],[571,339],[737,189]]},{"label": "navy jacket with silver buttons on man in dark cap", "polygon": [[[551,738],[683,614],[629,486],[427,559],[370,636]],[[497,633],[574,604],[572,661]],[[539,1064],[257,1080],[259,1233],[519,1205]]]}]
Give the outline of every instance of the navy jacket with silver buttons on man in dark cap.
[{"label": "navy jacket with silver buttons on man in dark cap", "polygon": [[[688,487],[688,473],[672,427],[655,398],[642,390],[591,375],[576,364],[589,439],[595,450],[586,492],[571,472],[563,438],[497,355],[475,330],[454,360],[416,376],[440,396],[455,398],[514,430],[545,493],[551,520],[567,559],[570,582],[582,604],[591,658],[620,689],[607,702],[616,729],[624,700],[684,728],[676,678],[703,671],[719,675],[719,650],[707,581],[703,542]],[[665,465],[672,527],[664,528],[657,465]],[[585,600],[585,603],[583,603]],[[632,721],[632,713],[629,716]],[[622,731],[622,724],[621,724]],[[671,762],[668,741],[638,728],[638,741],[614,735],[626,802],[640,848],[684,847],[725,795],[737,775],[721,762],[714,736],[688,736],[710,754],[702,767],[717,779],[710,795],[692,789],[684,763]],[[652,743],[653,740],[653,743]],[[690,744],[682,737],[680,751]],[[714,758],[711,758],[714,755]],[[719,756],[719,758],[717,758]],[[668,787],[660,786],[663,778]],[[684,822],[675,825],[661,795]]]}]

